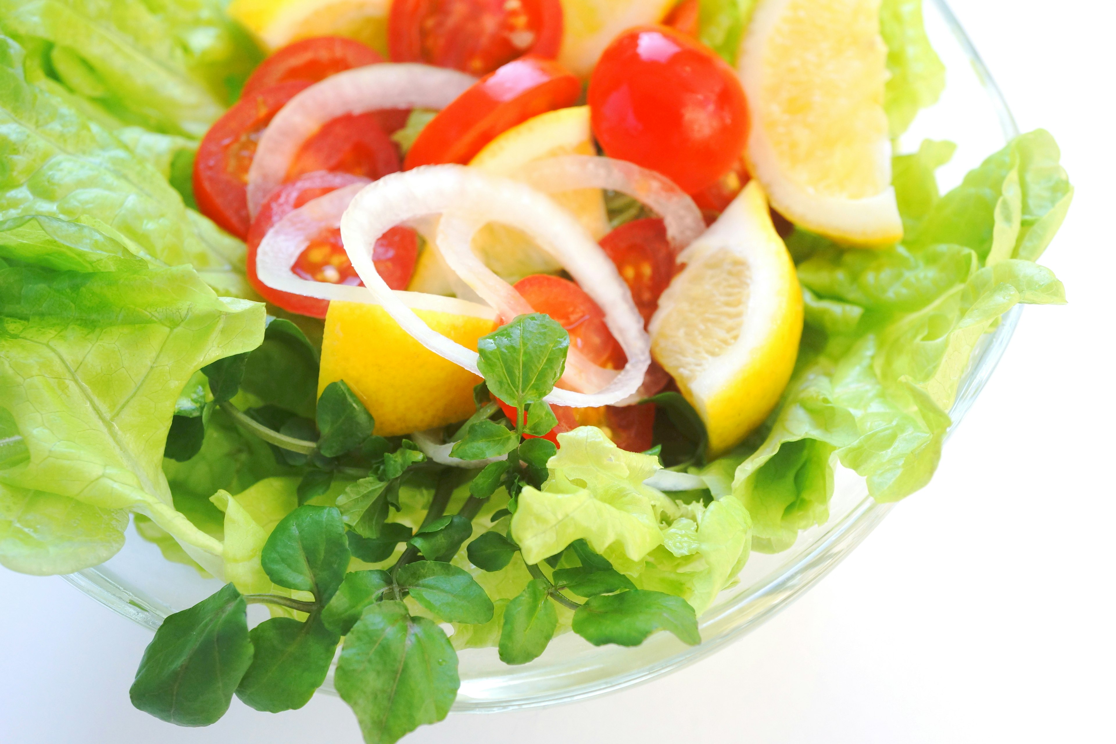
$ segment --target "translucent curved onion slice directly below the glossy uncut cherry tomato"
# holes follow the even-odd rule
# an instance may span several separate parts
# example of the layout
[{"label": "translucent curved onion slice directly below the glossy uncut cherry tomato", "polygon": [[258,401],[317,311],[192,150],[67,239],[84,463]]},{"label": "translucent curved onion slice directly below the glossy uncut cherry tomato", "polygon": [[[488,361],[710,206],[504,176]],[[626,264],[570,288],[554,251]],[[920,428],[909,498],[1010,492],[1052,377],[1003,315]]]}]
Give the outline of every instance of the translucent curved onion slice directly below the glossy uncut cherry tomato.
[{"label": "translucent curved onion slice directly below the glossy uncut cherry tomato", "polygon": [[548,194],[574,189],[608,189],[627,194],[663,218],[675,257],[705,232],[701,210],[689,194],[661,173],[627,161],[595,155],[547,157],[525,165],[517,180]]}]

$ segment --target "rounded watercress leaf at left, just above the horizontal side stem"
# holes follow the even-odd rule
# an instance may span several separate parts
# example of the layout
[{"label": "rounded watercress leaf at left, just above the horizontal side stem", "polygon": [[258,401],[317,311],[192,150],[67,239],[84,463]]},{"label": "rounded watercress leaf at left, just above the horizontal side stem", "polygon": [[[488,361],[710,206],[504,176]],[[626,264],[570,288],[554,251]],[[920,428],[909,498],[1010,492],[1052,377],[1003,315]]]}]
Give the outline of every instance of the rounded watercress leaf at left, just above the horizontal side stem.
[{"label": "rounded watercress leaf at left, just above the horizontal side stem", "polygon": [[280,587],[312,591],[321,605],[337,591],[348,568],[345,522],[336,506],[299,506],[276,525],[260,555]]}]

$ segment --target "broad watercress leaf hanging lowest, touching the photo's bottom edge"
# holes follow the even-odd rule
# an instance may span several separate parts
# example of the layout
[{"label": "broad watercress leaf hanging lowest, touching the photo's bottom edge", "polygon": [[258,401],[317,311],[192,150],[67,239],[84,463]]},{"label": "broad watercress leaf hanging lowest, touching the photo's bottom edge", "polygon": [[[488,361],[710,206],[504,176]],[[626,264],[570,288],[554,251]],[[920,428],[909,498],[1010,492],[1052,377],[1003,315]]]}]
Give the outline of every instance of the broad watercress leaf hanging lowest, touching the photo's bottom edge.
[{"label": "broad watercress leaf hanging lowest, touching the photo's bottom edge", "polygon": [[406,605],[369,607],[345,638],[334,685],[352,706],[367,744],[393,744],[437,723],[458,695],[458,655],[433,621]]}]

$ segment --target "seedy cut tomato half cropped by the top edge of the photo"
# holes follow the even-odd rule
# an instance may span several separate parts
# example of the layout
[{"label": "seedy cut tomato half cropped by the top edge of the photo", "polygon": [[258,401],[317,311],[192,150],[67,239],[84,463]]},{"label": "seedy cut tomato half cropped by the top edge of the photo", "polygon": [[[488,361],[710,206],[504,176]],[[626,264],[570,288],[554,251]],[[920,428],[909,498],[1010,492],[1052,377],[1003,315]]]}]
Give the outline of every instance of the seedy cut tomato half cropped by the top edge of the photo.
[{"label": "seedy cut tomato half cropped by the top edge of the photo", "polygon": [[392,61],[426,62],[487,75],[561,46],[559,0],[395,0],[387,19]]}]

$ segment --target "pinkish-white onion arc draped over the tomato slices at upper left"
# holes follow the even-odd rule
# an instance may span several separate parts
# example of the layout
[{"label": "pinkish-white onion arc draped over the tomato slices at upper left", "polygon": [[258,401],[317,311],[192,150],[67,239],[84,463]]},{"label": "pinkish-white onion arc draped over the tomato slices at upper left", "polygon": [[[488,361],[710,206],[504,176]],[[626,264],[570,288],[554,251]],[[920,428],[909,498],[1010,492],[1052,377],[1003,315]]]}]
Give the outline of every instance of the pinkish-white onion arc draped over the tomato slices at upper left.
[{"label": "pinkish-white onion arc draped over the tomato slices at upper left", "polygon": [[445,108],[477,78],[430,65],[382,62],[331,75],[279,109],[263,131],[248,170],[248,213],[287,177],[302,144],[326,122],[381,108]]}]

